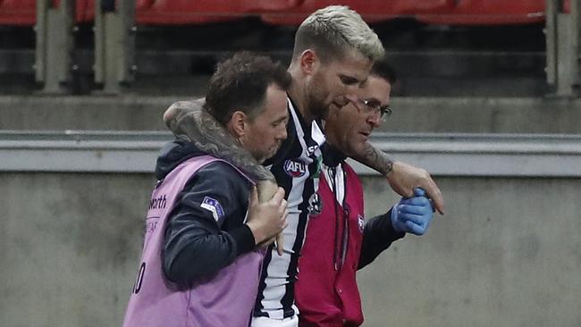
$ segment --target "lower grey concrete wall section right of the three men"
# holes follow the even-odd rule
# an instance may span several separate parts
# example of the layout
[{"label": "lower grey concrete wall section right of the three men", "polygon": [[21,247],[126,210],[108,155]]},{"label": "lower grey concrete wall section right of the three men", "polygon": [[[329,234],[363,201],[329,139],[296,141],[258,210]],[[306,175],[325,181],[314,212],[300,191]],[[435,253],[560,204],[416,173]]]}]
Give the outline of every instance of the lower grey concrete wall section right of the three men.
[{"label": "lower grey concrete wall section right of the three men", "polygon": [[[445,216],[359,274],[366,325],[580,326],[581,180],[437,181]],[[377,214],[387,188],[365,184]]]}]

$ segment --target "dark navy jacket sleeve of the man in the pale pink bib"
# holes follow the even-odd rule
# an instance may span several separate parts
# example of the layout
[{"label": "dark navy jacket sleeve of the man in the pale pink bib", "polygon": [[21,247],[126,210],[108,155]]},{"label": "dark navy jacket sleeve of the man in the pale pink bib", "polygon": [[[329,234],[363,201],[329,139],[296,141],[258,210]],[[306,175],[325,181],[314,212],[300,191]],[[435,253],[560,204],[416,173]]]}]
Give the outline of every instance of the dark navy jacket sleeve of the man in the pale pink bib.
[{"label": "dark navy jacket sleeve of the man in the pale pink bib", "polygon": [[223,162],[207,164],[192,176],[165,228],[162,259],[170,281],[217,272],[255,247],[244,223],[249,188],[248,180]]}]

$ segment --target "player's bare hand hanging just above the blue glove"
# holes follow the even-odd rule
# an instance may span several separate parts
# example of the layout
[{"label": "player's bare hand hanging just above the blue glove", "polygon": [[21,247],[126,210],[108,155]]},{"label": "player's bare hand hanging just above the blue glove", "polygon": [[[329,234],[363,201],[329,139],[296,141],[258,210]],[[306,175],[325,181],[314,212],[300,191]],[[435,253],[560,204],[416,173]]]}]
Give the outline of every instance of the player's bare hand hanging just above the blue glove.
[{"label": "player's bare hand hanging just above the blue glove", "polygon": [[432,180],[429,172],[411,164],[394,162],[392,171],[387,174],[387,180],[394,191],[402,197],[412,197],[415,188],[425,189],[426,197],[434,201],[434,207],[440,214],[444,213],[442,192]]}]

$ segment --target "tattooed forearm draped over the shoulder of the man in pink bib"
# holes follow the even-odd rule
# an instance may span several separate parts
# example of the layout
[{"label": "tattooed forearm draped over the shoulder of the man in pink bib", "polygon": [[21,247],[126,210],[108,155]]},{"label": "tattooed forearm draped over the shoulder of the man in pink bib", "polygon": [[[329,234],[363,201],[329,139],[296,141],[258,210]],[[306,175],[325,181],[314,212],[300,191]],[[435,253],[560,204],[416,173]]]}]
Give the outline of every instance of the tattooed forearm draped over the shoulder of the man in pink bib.
[{"label": "tattooed forearm draped over the shoulder of the man in pink bib", "polygon": [[179,101],[170,110],[166,122],[176,137],[187,138],[208,155],[223,159],[246,173],[253,180],[274,180],[272,172],[259,164],[220,122],[203,108],[204,100]]}]

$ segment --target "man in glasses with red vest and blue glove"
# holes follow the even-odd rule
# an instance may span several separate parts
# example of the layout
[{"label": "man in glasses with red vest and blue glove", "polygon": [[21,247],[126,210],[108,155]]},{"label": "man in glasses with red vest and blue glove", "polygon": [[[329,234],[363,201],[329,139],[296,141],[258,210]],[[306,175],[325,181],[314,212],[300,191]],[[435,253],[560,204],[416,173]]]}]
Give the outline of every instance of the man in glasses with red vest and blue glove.
[{"label": "man in glasses with red vest and blue glove", "polygon": [[433,217],[423,189],[366,222],[363,188],[345,159],[364,147],[389,108],[395,74],[380,60],[359,90],[359,102],[330,111],[318,190],[309,198],[307,237],[299,260],[295,298],[299,327],[363,323],[356,272],[405,233],[422,235]]}]

